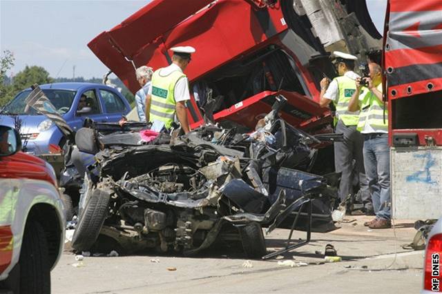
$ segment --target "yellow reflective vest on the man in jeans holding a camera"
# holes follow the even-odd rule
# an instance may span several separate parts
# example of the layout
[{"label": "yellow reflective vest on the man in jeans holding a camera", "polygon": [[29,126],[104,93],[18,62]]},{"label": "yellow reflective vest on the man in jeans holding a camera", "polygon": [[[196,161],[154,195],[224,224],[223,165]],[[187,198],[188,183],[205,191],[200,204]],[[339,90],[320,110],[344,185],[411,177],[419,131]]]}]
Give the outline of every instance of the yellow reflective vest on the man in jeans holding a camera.
[{"label": "yellow reflective vest on the man in jeans holding a camera", "polygon": [[[382,84],[376,87],[382,91]],[[384,105],[383,102],[373,94],[372,91],[363,87],[361,96],[361,113],[359,114],[358,131],[362,131],[365,128],[365,124],[369,124],[375,131],[382,130],[388,131],[388,110],[385,108],[385,121],[384,121]]]}]

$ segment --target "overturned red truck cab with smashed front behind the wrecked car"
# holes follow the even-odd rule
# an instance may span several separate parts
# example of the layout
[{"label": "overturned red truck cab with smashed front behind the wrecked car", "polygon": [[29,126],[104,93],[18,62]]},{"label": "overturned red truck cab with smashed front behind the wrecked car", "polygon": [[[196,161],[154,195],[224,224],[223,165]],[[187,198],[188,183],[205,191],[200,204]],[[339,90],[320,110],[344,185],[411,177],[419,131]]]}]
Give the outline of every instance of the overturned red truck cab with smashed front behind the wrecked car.
[{"label": "overturned red truck cab with smashed front behind the wrecked car", "polygon": [[331,121],[318,104],[320,79],[336,75],[329,52],[365,59],[380,39],[365,1],[154,0],[88,47],[132,92],[140,88],[134,68],[167,66],[174,46],[196,48],[186,70],[193,128],[202,124],[199,106],[215,99],[215,121],[253,129],[282,94],[282,119],[316,133]]}]

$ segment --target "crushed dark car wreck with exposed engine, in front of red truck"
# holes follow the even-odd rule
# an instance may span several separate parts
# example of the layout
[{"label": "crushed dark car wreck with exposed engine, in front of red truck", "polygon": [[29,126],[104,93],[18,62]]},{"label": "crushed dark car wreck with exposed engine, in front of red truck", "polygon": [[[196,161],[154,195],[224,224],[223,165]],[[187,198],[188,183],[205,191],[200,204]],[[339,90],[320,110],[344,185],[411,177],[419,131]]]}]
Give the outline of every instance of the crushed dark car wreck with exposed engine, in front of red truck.
[{"label": "crushed dark car wreck with exposed engine, in front of red truck", "polygon": [[[276,99],[253,133],[206,124],[187,135],[160,134],[148,145],[100,150],[86,172],[73,248],[94,249],[106,236],[129,252],[191,255],[222,238],[240,241],[249,257],[262,257],[262,226],[273,230],[313,199],[330,213],[336,175],[302,170],[314,164],[312,147],[336,135],[314,137],[287,124],[278,115],[287,100]],[[102,140],[115,135],[122,134]]]}]

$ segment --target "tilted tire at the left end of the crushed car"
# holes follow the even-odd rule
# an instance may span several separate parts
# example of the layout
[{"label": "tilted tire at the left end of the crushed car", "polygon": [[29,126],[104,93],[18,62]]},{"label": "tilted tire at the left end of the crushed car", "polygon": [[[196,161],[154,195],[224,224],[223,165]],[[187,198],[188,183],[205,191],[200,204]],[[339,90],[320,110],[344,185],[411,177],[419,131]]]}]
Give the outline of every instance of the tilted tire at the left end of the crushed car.
[{"label": "tilted tire at the left end of the crushed car", "polygon": [[81,210],[72,239],[77,251],[88,251],[98,238],[108,213],[111,195],[99,188],[93,190],[86,206]]}]

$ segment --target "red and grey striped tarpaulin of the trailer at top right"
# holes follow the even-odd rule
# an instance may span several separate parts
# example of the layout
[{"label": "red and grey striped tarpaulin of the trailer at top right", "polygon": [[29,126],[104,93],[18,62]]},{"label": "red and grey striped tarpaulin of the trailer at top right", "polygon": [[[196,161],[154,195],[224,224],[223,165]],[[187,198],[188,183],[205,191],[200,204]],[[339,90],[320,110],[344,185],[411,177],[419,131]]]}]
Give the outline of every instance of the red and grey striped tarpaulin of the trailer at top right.
[{"label": "red and grey striped tarpaulin of the trailer at top right", "polygon": [[388,97],[442,90],[442,2],[390,0],[385,39]]}]

